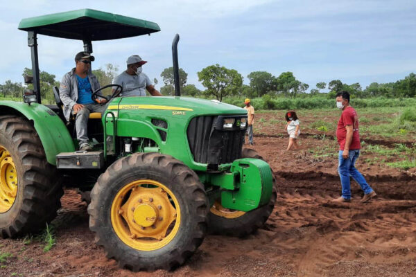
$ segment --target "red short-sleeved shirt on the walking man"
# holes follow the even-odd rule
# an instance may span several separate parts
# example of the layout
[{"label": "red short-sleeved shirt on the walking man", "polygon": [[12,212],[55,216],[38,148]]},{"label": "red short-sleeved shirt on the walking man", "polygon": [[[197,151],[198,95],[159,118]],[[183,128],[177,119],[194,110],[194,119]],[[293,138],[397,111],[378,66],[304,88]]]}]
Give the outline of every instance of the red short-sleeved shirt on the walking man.
[{"label": "red short-sleeved shirt on the walking man", "polygon": [[345,141],[347,139],[346,125],[352,125],[352,141],[349,145],[349,150],[356,150],[361,148],[360,143],[360,132],[358,131],[358,115],[355,109],[351,106],[346,107],[341,114],[340,120],[338,121],[338,127],[336,129],[336,138],[340,145],[340,150],[344,150]]}]

